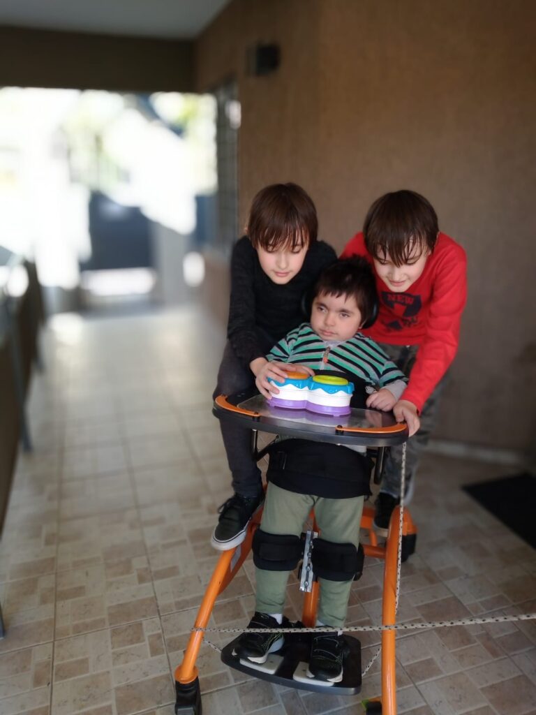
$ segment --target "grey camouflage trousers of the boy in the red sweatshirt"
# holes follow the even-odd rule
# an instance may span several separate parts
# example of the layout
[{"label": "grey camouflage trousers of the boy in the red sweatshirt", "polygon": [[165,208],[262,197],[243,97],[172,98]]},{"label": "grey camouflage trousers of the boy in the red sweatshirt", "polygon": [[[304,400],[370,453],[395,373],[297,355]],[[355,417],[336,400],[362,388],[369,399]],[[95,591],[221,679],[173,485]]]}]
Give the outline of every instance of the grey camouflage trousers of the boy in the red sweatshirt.
[{"label": "grey camouflage trousers of the boy in the red sweatshirt", "polygon": [[[379,347],[382,348],[389,358],[397,367],[402,370],[406,377],[410,376],[415,358],[417,357],[418,345],[389,345],[385,342],[379,342]],[[425,402],[420,414],[421,426],[417,434],[413,435],[407,442],[406,449],[406,489],[405,493],[412,493],[415,487],[415,473],[419,464],[422,450],[430,440],[430,435],[435,428],[437,420],[437,410],[440,404],[441,393],[445,384],[448,381],[448,373],[439,383],[430,398]],[[402,395],[402,400],[404,395]],[[389,455],[385,460],[384,473],[382,478],[382,492],[387,492],[394,497],[400,496],[400,482],[402,480],[402,445],[392,447],[389,450]]]}]

